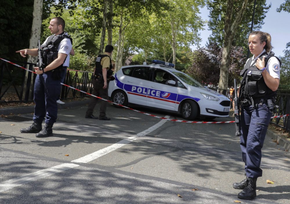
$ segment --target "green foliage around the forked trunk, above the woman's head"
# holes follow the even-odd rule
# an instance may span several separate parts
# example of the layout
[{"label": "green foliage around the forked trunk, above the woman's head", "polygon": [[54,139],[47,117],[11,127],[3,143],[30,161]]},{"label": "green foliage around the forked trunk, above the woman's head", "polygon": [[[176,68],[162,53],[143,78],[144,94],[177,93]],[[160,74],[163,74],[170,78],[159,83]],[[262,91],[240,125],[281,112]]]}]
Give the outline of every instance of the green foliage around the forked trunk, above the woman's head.
[{"label": "green foliage around the forked trunk, above the woman's head", "polygon": [[[233,4],[234,8],[232,21],[235,20],[235,15],[239,12],[242,3],[243,0],[237,0]],[[207,7],[210,10],[210,20],[208,25],[209,29],[212,31],[212,34],[209,37],[209,44],[218,43],[219,46],[222,46],[224,43],[224,18],[227,8],[227,0],[208,0]],[[248,46],[244,43],[244,41],[247,40],[251,31],[253,8],[254,4],[248,3],[247,9],[245,10],[244,16],[234,36],[234,41],[232,44],[233,46],[243,47],[244,54],[248,51]],[[267,6],[266,0],[256,1],[253,30],[259,30],[261,28],[264,24],[266,13],[270,8],[271,4]]]}]

